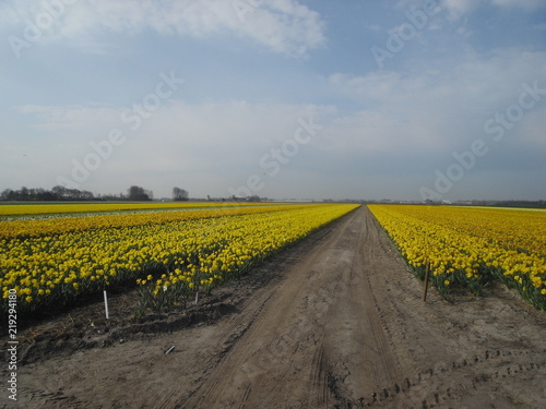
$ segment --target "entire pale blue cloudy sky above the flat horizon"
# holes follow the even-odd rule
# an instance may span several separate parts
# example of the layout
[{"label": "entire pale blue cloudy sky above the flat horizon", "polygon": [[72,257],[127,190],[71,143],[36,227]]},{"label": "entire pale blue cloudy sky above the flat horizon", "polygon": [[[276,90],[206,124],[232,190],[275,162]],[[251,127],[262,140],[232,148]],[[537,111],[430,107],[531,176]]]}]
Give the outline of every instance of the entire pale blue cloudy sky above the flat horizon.
[{"label": "entire pale blue cloudy sky above the flat horizon", "polygon": [[546,200],[546,1],[0,2],[0,190]]}]

